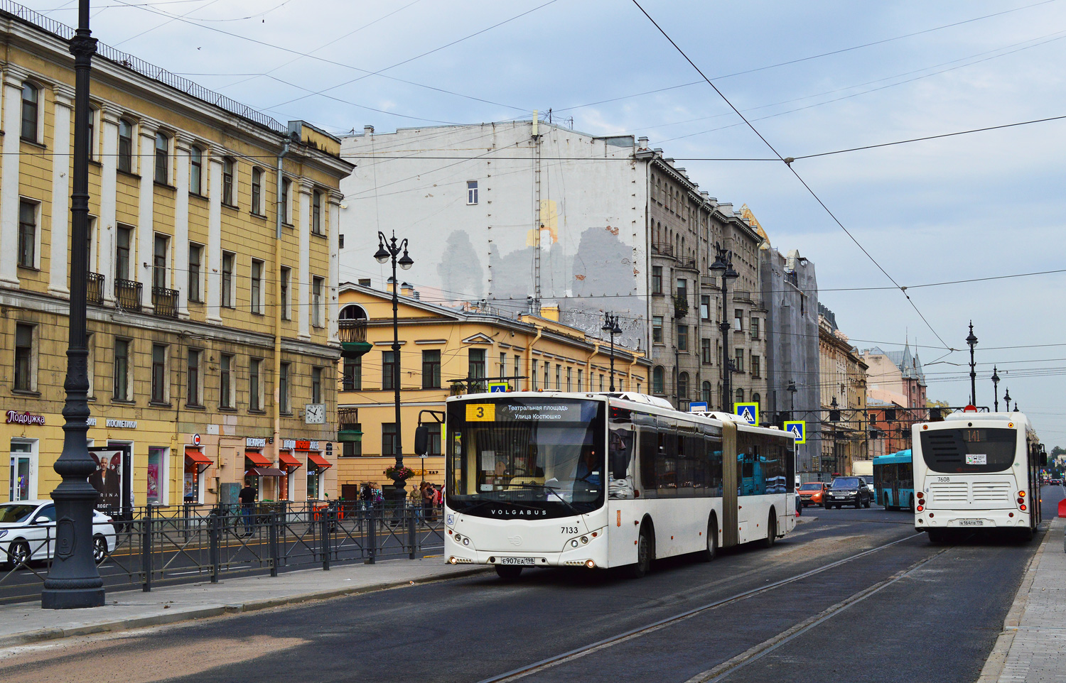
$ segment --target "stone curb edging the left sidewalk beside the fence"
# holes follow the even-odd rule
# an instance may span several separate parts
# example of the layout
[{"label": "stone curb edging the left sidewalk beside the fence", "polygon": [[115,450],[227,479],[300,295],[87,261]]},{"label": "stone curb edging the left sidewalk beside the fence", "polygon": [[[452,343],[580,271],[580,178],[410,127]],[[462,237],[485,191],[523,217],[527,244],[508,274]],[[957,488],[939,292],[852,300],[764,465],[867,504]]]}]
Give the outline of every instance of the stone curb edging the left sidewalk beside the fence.
[{"label": "stone curb edging the left sidewalk beside the fence", "polygon": [[0,638],[0,648],[12,648],[25,645],[32,645],[35,643],[43,643],[46,640],[60,640],[62,638],[94,635],[98,633],[118,633],[120,631],[128,631],[131,629],[159,627],[171,623],[177,623],[180,621],[194,621],[197,619],[207,619],[210,617],[221,617],[225,615],[242,614],[246,612],[258,612],[260,609],[271,609],[273,607],[281,607],[286,605],[297,605],[304,602],[311,602],[314,600],[329,600],[332,598],[342,598],[344,596],[358,596],[367,592],[377,592],[381,590],[390,590],[392,588],[403,588],[405,586],[420,586],[424,584],[436,583],[438,581],[450,581],[452,579],[463,579],[465,576],[472,576],[491,570],[494,570],[494,567],[483,566],[483,567],[471,568],[464,571],[457,571],[455,573],[447,575],[424,576],[422,579],[406,580],[406,581],[389,581],[379,584],[371,584],[368,586],[358,586],[351,588],[330,588],[328,590],[316,590],[312,592],[285,596],[282,598],[265,598],[262,600],[251,600],[247,602],[237,603],[237,604],[203,607],[199,609],[187,609],[187,611],[177,609],[175,612],[166,612],[163,614],[151,615],[148,617],[133,617],[129,619],[115,619],[113,621],[98,621],[96,623],[86,623],[69,628],[53,627],[48,629],[38,629],[36,631],[28,631],[26,633],[4,636]]}]

